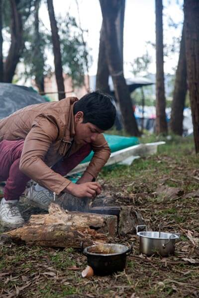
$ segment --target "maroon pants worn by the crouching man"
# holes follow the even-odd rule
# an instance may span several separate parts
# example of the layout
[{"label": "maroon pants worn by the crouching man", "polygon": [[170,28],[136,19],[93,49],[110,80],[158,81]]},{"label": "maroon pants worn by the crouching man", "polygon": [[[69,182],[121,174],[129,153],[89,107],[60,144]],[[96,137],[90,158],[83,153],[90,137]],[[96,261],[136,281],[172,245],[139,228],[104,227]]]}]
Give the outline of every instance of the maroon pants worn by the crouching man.
[{"label": "maroon pants worn by the crouching man", "polygon": [[[24,140],[0,142],[0,181],[5,181],[5,200],[18,200],[24,192],[26,183],[30,180],[19,170],[19,162],[23,149]],[[83,146],[79,151],[56,163],[52,169],[62,176],[69,173],[76,167],[89,153],[91,145]]]}]

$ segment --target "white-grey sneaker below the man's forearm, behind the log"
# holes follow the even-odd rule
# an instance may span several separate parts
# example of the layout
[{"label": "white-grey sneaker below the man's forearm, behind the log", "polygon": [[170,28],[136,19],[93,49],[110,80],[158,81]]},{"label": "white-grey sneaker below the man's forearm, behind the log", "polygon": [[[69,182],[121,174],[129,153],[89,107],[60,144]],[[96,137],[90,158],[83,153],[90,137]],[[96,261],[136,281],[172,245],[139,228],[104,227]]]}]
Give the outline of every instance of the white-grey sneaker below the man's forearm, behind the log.
[{"label": "white-grey sneaker below the man's forearm, behind the log", "polygon": [[35,186],[31,186],[27,195],[29,204],[48,211],[48,206],[54,201],[55,193],[43,187],[41,189],[43,190],[36,190]]}]

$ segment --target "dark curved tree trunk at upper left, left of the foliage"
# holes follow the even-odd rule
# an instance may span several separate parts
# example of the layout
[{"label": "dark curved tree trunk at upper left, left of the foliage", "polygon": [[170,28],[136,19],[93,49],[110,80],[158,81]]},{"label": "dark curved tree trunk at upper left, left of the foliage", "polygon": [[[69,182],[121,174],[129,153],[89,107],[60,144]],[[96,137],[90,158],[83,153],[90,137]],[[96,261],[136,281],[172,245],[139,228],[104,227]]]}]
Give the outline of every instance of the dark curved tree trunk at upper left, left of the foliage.
[{"label": "dark curved tree trunk at upper left, left of the foliage", "polygon": [[17,5],[19,0],[10,0],[11,6],[11,45],[4,64],[4,82],[11,83],[15,73],[16,65],[19,62],[21,55],[23,40],[22,40],[22,22],[21,14]]}]

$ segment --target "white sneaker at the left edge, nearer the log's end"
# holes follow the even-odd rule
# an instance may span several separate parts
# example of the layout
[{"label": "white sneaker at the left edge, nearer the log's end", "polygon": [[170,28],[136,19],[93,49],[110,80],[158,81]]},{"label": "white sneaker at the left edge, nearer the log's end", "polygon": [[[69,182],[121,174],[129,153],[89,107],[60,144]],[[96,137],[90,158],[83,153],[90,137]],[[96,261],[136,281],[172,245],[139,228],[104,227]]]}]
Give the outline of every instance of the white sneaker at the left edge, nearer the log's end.
[{"label": "white sneaker at the left edge, nearer the log's end", "polygon": [[6,227],[16,228],[24,224],[24,219],[16,206],[17,200],[5,201],[2,198],[0,202],[0,223]]}]

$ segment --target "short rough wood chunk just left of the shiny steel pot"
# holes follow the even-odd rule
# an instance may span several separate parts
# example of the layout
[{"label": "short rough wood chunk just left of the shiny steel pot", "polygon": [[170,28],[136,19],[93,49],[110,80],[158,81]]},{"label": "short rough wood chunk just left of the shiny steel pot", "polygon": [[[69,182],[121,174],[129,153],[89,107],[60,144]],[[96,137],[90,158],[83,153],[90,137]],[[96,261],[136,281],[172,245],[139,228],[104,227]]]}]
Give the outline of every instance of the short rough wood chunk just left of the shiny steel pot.
[{"label": "short rough wood chunk just left of the shiny steel pot", "polygon": [[136,226],[144,224],[142,215],[134,206],[121,206],[119,213],[118,234],[135,234]]}]

